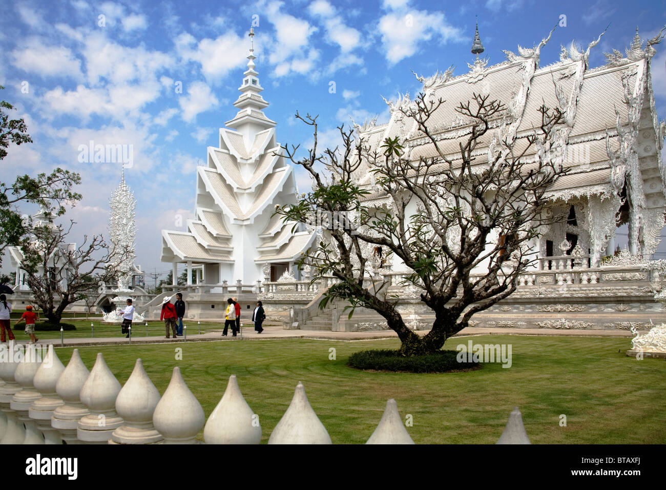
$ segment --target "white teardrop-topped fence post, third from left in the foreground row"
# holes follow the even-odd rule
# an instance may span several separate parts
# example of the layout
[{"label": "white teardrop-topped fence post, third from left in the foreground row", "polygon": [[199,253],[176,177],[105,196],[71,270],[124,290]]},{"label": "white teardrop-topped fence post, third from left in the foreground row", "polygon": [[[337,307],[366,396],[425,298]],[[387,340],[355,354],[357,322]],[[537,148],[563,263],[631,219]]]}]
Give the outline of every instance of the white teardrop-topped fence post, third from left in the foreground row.
[{"label": "white teardrop-topped fence post, third from left in the foreground row", "polygon": [[45,444],[63,443],[60,432],[53,429],[51,425],[53,411],[61,405],[65,405],[63,399],[55,391],[55,386],[63,371],[65,371],[65,365],[56,355],[53,344],[50,344],[49,350],[33,379],[33,385],[35,385],[35,389],[39,391],[41,397],[33,401],[28,411],[30,418],[37,421],[37,429],[43,433]]}]

